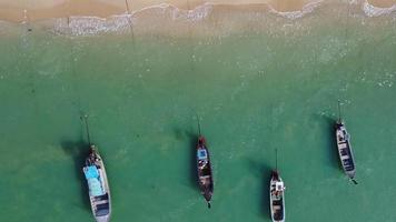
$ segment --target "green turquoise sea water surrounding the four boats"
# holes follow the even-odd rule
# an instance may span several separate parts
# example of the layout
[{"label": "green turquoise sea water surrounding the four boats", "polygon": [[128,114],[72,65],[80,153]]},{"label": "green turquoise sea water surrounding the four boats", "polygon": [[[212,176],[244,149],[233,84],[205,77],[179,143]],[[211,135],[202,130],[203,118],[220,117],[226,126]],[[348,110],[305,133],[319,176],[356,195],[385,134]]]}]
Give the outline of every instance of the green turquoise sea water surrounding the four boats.
[{"label": "green turquoise sea water surrounding the four boats", "polygon": [[[220,36],[1,36],[2,221],[93,220],[81,113],[107,165],[112,221],[269,221],[275,149],[288,221],[395,221],[396,23],[323,10]],[[358,185],[337,159],[338,99]],[[195,179],[197,113],[211,210]]]}]

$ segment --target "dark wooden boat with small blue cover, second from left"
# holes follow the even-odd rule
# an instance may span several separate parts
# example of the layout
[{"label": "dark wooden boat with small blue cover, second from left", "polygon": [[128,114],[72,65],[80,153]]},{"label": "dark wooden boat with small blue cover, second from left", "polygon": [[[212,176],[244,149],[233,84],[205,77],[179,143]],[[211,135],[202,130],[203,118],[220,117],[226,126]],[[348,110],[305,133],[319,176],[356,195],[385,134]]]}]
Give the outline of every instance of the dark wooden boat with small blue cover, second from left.
[{"label": "dark wooden boat with small blue cover, second from left", "polygon": [[210,209],[210,200],[214,193],[214,179],[211,174],[209,151],[206,145],[206,140],[201,135],[198,138],[197,144],[197,170],[199,189]]}]

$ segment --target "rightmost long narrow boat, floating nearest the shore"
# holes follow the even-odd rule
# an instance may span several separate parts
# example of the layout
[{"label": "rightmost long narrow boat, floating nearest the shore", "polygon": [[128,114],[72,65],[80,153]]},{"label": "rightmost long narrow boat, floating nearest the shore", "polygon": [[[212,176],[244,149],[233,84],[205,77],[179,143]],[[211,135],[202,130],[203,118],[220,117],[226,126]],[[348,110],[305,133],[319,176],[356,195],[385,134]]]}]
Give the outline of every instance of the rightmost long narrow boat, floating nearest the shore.
[{"label": "rightmost long narrow boat, floating nearest the shore", "polygon": [[[339,103],[338,103],[339,109]],[[345,174],[357,184],[355,180],[356,169],[355,169],[355,161],[354,155],[352,152],[349,134],[346,130],[345,123],[340,118],[340,109],[339,109],[339,118],[336,121],[336,141],[338,148],[339,160],[343,165]]]}]

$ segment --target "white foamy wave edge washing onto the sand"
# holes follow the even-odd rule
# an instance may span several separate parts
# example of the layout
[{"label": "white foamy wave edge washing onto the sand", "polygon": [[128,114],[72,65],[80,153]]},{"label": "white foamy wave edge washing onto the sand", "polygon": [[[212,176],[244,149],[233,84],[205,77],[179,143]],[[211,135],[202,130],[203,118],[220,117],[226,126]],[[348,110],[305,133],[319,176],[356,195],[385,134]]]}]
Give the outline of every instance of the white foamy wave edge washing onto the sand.
[{"label": "white foamy wave edge washing onto the sand", "polygon": [[[326,4],[325,4],[326,3]],[[340,4],[349,4],[362,11],[363,17],[380,17],[390,14],[396,11],[396,4],[390,8],[378,8],[372,6],[367,0],[350,0],[350,1],[326,1],[315,0],[303,7],[301,10],[283,12],[277,11],[275,8],[268,6],[267,10],[255,11],[255,14],[266,16],[273,13],[285,18],[287,20],[296,20],[304,18],[320,9],[326,9],[333,6],[339,7]],[[338,4],[338,6],[337,6]],[[95,36],[107,32],[125,33],[130,32],[132,29],[147,26],[147,29],[158,30],[168,24],[174,26],[174,30],[180,30],[179,24],[189,26],[192,23],[205,22],[208,17],[216,13],[218,8],[225,7],[225,4],[204,3],[191,10],[179,9],[169,3],[161,3],[157,6],[147,7],[132,12],[125,12],[122,14],[111,16],[109,18],[98,17],[70,17],[60,19],[47,20],[47,28],[58,34],[71,34],[71,36]],[[235,8],[237,10],[237,8]],[[216,18],[216,17],[215,17]],[[395,17],[396,18],[396,17]],[[152,21],[151,21],[152,20]],[[52,24],[50,24],[51,22]],[[26,22],[22,22],[26,23]],[[39,22],[40,23],[40,22]],[[4,27],[3,24],[1,27]],[[138,28],[139,29],[139,28]],[[1,29],[0,29],[1,31]]]}]

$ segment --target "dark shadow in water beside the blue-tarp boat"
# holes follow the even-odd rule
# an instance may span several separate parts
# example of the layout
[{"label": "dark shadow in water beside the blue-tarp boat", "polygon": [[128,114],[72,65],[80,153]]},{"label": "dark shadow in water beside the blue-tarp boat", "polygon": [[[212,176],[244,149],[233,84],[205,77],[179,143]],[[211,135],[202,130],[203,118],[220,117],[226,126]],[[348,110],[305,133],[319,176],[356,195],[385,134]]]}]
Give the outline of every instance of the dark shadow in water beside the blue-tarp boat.
[{"label": "dark shadow in water beside the blue-tarp boat", "polygon": [[79,181],[80,192],[81,192],[81,202],[83,203],[83,208],[87,211],[91,211],[91,205],[88,199],[88,188],[87,181],[82,173],[82,167],[86,161],[86,158],[89,154],[88,143],[85,141],[62,141],[60,143],[63,152],[71,157],[75,164],[76,179]]}]

